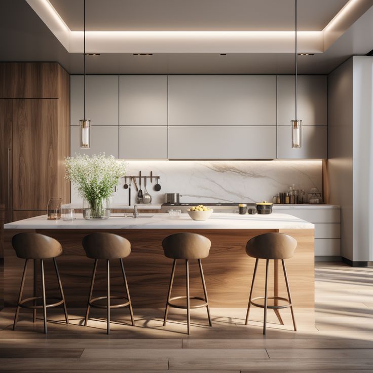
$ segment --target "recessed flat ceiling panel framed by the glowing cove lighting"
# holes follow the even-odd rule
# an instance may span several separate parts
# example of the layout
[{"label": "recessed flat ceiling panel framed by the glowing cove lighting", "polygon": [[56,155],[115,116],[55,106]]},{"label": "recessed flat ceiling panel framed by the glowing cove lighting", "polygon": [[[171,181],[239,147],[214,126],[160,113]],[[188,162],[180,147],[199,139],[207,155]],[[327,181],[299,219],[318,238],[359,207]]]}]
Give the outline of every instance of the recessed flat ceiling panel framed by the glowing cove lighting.
[{"label": "recessed flat ceiling panel framed by the glowing cove lighting", "polygon": [[[83,30],[83,0],[49,0],[71,31]],[[321,31],[348,0],[297,0],[299,30]],[[86,0],[95,31],[290,31],[295,0]]]}]

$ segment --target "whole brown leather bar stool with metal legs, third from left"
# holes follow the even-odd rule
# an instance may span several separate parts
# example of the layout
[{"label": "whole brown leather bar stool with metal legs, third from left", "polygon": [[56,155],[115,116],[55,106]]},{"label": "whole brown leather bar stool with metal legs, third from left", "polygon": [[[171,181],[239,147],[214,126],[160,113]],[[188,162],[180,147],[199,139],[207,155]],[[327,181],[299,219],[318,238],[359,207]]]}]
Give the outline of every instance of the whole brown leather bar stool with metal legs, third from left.
[{"label": "whole brown leather bar stool with metal legs, third from left", "polygon": [[[209,325],[212,326],[210,309],[208,305],[205,277],[203,276],[202,262],[201,262],[201,259],[207,257],[209,254],[210,247],[211,247],[211,241],[207,237],[198,235],[196,233],[176,233],[176,234],[166,237],[162,242],[162,246],[164,249],[165,256],[173,259],[163,326],[165,326],[167,322],[167,315],[168,315],[169,307],[187,310],[188,334],[190,334],[190,324],[191,324],[190,309],[191,308],[206,307],[208,322],[209,322]],[[171,290],[172,290],[173,278],[175,275],[177,259],[185,260],[187,295],[186,296],[174,296],[173,298],[171,298]],[[189,260],[190,259],[198,259],[198,264],[199,264],[200,273],[201,273],[202,287],[203,287],[203,292],[205,295],[204,298],[201,298],[199,296],[190,296],[189,294]],[[192,299],[202,301],[202,303],[197,304],[195,306],[191,306],[190,301]],[[177,303],[173,303],[174,301],[177,301],[177,300],[187,300],[187,305],[184,306],[184,305],[180,305]]]}]

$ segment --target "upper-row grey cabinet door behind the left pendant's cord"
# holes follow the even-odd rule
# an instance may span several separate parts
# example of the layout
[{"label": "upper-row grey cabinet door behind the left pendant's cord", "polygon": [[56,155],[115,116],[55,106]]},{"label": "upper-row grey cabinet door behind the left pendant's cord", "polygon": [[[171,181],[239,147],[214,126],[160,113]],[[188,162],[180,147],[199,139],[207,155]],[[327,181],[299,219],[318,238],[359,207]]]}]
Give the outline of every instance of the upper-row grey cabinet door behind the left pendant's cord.
[{"label": "upper-row grey cabinet door behind the left pendant's cord", "polygon": [[[92,126],[119,125],[119,76],[86,76],[86,119]],[[82,75],[70,77],[70,125],[84,119],[84,84]]]}]

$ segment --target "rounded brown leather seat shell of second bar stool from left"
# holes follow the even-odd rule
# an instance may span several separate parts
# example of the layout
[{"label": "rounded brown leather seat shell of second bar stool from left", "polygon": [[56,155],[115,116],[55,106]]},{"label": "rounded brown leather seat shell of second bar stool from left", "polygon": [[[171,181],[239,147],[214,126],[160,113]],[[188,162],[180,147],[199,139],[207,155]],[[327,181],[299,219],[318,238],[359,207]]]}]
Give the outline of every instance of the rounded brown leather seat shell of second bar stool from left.
[{"label": "rounded brown leather seat shell of second bar stool from left", "polygon": [[83,238],[86,255],[93,259],[119,259],[131,253],[131,243],[114,233],[96,232]]}]

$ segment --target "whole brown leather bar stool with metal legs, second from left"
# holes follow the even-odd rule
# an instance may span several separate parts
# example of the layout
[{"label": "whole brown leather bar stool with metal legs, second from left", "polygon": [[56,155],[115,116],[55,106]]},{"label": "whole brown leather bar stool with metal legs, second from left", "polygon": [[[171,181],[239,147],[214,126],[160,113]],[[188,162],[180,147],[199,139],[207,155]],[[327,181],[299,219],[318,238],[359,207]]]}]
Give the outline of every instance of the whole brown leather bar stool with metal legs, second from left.
[{"label": "whole brown leather bar stool with metal legs, second from left", "polygon": [[[82,241],[82,245],[86,252],[87,257],[95,259],[95,262],[93,265],[91,288],[89,290],[84,326],[88,325],[88,316],[89,316],[90,307],[106,309],[106,315],[107,315],[106,332],[107,334],[109,334],[110,332],[110,308],[122,308],[122,307],[127,307],[127,306],[129,306],[129,309],[130,309],[132,325],[135,325],[135,322],[133,319],[131,297],[130,297],[130,292],[128,289],[128,283],[127,283],[126,274],[124,272],[124,265],[123,265],[123,259],[122,259],[122,258],[127,257],[131,253],[131,243],[127,239],[121,236],[115,235],[113,233],[97,232],[97,233],[89,234],[88,236],[84,237]],[[94,285],[96,270],[97,270],[97,262],[99,259],[106,260],[107,293],[106,293],[106,296],[98,296],[98,297],[92,298],[93,285]],[[117,296],[117,295],[110,295],[110,268],[109,268],[110,259],[119,259],[119,263],[121,265],[122,275],[124,279],[124,285],[126,288],[125,297]],[[102,299],[106,300],[106,305],[95,304],[95,302],[100,301]],[[121,303],[118,305],[117,304],[110,305],[110,299],[122,299],[122,300],[126,300],[127,302]]]}]

